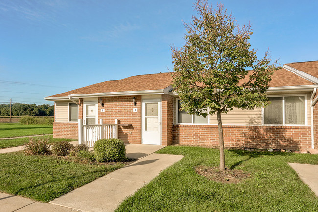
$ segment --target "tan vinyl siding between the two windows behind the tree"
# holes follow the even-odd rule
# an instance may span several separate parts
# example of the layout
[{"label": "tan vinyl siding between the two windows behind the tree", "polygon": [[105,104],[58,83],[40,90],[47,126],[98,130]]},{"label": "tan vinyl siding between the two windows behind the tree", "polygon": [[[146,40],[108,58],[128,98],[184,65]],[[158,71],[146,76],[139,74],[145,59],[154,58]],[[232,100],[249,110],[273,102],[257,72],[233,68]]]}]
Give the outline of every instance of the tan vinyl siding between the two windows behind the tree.
[{"label": "tan vinyl siding between the two windows behind the tree", "polygon": [[[242,110],[234,108],[227,114],[222,114],[221,117],[224,125],[261,125],[262,109]],[[210,124],[218,124],[216,114],[210,116]]]}]

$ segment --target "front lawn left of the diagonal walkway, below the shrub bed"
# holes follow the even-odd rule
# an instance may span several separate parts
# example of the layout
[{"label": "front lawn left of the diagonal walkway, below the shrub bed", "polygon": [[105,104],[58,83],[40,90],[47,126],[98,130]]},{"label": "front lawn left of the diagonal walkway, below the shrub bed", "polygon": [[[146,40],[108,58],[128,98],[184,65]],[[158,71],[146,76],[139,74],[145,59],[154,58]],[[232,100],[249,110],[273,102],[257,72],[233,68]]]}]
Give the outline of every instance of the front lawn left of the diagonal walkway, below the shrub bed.
[{"label": "front lawn left of the diagonal walkway, below the shrub bed", "polygon": [[54,156],[25,156],[23,152],[0,154],[0,162],[0,192],[43,202],[125,166],[79,164]]}]

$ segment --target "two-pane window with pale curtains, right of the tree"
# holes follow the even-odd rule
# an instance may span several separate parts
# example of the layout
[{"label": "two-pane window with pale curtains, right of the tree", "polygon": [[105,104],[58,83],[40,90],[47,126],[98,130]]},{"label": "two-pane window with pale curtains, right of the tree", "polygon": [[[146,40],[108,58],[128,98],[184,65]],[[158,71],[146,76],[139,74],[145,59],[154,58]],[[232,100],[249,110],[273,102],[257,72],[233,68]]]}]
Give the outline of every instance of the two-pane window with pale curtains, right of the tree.
[{"label": "two-pane window with pale curtains, right of the tree", "polygon": [[268,99],[272,103],[264,108],[264,124],[305,124],[305,96],[269,97]]}]

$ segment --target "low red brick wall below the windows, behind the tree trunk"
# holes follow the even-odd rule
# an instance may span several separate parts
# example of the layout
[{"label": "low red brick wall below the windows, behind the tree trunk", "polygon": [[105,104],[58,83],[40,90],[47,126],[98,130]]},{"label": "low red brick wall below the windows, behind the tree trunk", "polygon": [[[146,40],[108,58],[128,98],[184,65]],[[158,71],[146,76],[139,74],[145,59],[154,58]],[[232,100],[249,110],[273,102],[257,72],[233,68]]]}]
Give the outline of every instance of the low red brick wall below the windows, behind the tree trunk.
[{"label": "low red brick wall below the windows, behind the tree trunk", "polygon": [[[310,127],[223,126],[226,147],[291,149],[311,148]],[[215,125],[174,125],[174,144],[218,146]]]}]

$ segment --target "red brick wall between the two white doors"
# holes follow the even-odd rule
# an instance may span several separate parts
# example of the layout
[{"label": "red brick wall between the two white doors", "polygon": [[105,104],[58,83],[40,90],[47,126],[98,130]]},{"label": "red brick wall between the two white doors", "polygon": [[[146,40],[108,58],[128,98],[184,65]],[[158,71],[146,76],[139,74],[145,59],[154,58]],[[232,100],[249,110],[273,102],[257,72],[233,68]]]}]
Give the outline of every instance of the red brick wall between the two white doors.
[{"label": "red brick wall between the two white doors", "polygon": [[[136,107],[132,100],[133,96],[103,97],[104,107],[98,103],[98,119],[102,118],[103,123],[109,124],[115,123],[115,119],[118,119],[120,124],[130,124],[128,127],[119,126],[119,139],[125,143],[141,144],[141,96],[135,98]],[[102,108],[105,112],[101,112]],[[133,112],[133,108],[137,108],[138,111]]]}]

